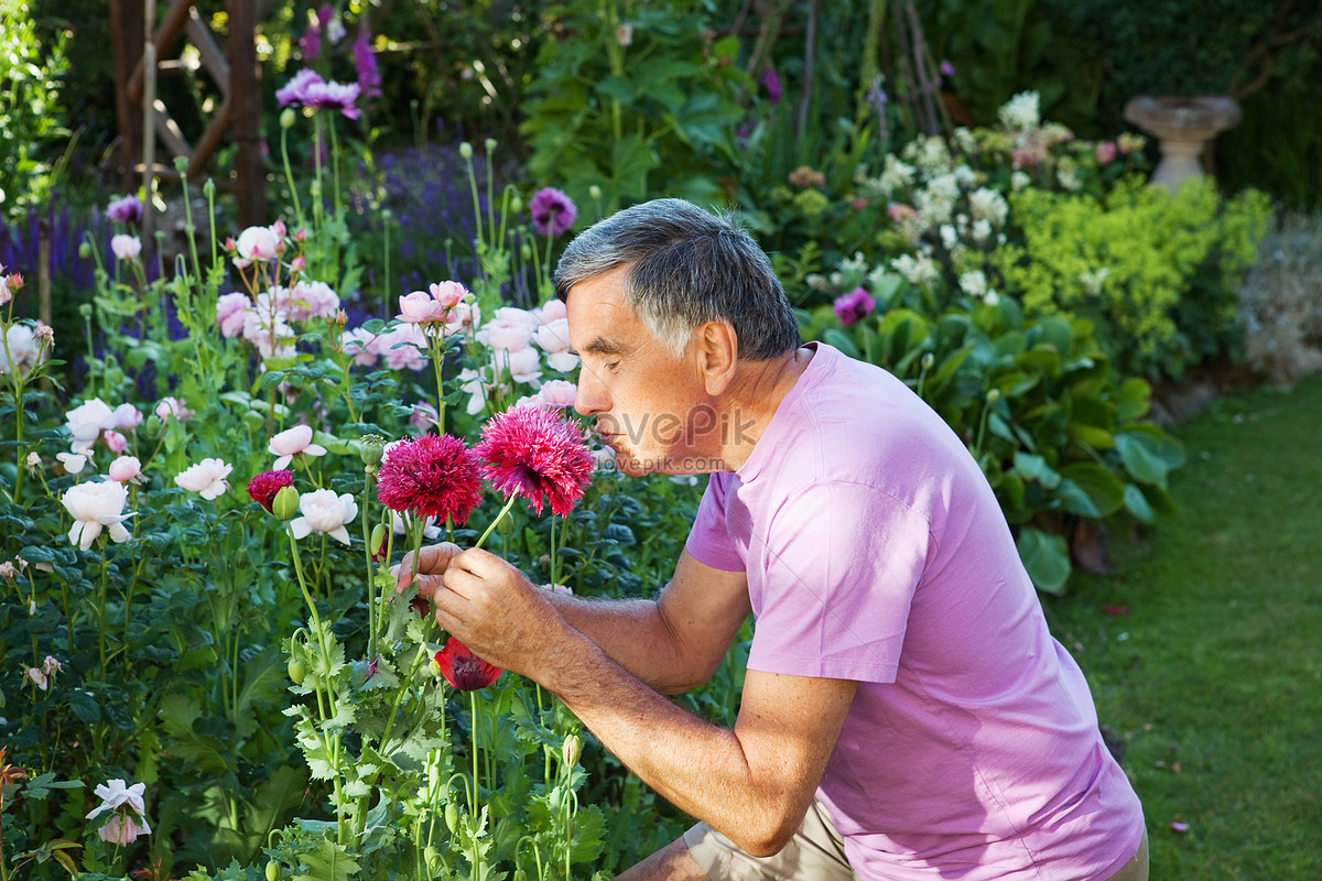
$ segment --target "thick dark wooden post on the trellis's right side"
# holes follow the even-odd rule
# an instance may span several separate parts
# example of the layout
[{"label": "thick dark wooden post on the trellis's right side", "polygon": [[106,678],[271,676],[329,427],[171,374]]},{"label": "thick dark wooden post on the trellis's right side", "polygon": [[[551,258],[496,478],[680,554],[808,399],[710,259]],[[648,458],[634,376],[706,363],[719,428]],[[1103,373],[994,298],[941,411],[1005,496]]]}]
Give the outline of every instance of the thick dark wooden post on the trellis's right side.
[{"label": "thick dark wooden post on the trellis's right side", "polygon": [[262,226],[266,215],[266,168],[262,162],[262,75],[256,61],[255,0],[225,0],[230,17],[230,102],[239,226]]}]

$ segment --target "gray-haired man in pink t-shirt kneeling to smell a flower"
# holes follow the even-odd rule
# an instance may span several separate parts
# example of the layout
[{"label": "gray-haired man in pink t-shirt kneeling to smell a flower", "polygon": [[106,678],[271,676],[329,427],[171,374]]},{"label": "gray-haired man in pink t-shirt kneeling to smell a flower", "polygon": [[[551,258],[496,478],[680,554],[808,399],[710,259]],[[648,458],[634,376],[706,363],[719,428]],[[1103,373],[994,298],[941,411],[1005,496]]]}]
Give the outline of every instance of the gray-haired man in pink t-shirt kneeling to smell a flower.
[{"label": "gray-haired man in pink t-shirt kneeling to smell a flower", "polygon": [[[555,284],[575,405],[619,466],[713,474],[674,577],[654,601],[590,601],[436,546],[420,586],[702,820],[624,877],[1146,878],[1087,683],[940,417],[800,345],[767,256],[686,202],[586,230]],[[706,682],[750,613],[732,730],[664,697]]]}]

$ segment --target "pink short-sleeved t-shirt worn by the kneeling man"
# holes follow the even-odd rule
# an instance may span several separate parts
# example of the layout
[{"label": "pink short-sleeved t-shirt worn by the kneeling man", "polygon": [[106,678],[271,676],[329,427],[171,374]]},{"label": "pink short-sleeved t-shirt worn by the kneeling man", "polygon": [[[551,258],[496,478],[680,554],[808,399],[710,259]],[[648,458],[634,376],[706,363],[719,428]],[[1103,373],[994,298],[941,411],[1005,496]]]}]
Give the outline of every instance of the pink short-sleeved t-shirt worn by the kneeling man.
[{"label": "pink short-sleeved t-shirt worn by the kneeling man", "polygon": [[907,386],[824,343],[687,549],[748,573],[748,667],[859,682],[818,798],[865,878],[1107,878],[1138,798],[992,487]]}]

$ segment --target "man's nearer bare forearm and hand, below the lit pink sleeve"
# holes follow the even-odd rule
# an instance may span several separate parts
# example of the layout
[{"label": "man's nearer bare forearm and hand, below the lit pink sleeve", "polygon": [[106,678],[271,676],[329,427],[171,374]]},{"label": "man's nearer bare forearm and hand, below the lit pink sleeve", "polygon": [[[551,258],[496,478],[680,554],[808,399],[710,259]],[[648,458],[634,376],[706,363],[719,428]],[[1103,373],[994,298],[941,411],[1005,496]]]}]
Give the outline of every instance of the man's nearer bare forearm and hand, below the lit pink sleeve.
[{"label": "man's nearer bare forearm and hand, below the lit pink sleeve", "polygon": [[465,551],[443,581],[434,596],[443,627],[558,695],[676,807],[755,855],[775,853],[793,836],[857,683],[750,671],[735,728],[726,730],[639,682],[500,557]]}]

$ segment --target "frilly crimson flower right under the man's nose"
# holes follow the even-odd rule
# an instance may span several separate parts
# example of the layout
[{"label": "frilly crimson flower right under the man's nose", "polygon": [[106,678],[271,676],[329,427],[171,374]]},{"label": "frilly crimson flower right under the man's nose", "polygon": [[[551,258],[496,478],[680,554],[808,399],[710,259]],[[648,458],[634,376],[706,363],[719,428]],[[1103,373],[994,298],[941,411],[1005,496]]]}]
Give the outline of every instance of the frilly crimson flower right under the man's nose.
[{"label": "frilly crimson flower right under the man's nose", "polygon": [[533,404],[506,409],[486,423],[473,452],[492,486],[505,498],[522,495],[538,514],[546,497],[553,514],[568,515],[592,479],[583,432],[559,409]]}]

